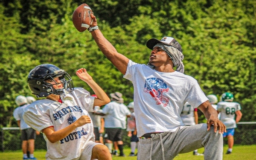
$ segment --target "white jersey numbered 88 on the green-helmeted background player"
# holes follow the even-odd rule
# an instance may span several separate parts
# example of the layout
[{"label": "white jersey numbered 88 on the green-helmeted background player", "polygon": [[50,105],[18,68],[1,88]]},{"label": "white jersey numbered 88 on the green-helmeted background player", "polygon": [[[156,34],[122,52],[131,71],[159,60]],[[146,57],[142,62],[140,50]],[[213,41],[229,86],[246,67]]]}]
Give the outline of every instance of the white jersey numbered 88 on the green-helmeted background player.
[{"label": "white jersey numbered 88 on the green-helmeted background player", "polygon": [[218,102],[217,110],[221,114],[221,122],[226,125],[227,129],[236,128],[236,111],[241,110],[241,105],[237,102]]}]

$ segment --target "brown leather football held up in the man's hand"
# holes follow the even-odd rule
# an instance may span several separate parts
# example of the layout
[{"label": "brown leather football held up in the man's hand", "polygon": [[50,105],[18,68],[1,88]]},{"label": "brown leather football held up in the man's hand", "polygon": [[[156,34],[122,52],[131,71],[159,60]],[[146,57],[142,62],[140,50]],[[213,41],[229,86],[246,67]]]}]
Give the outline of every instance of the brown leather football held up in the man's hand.
[{"label": "brown leather football held up in the man's hand", "polygon": [[93,23],[91,13],[92,10],[86,3],[81,4],[74,11],[72,21],[79,32],[84,32]]}]

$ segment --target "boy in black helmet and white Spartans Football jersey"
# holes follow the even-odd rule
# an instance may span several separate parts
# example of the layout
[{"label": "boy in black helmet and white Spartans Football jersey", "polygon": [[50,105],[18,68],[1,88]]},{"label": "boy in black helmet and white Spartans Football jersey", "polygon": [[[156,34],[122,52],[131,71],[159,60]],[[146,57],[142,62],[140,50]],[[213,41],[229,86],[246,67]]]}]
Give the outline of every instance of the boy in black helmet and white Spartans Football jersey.
[{"label": "boy in black helmet and white Spartans Football jersey", "polygon": [[27,124],[44,134],[47,141],[47,160],[111,160],[108,148],[94,142],[93,124],[89,113],[94,106],[110,102],[84,68],[76,75],[97,95],[83,88],[74,88],[71,77],[52,64],[32,69],[28,76],[29,89],[37,97],[24,110]]}]

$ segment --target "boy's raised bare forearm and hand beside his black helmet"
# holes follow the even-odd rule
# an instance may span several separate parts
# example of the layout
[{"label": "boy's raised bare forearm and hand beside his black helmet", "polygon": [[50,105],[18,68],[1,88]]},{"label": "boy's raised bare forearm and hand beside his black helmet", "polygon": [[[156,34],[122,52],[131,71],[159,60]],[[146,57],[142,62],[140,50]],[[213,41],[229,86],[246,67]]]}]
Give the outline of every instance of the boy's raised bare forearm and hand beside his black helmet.
[{"label": "boy's raised bare forearm and hand beside his black helmet", "polygon": [[93,80],[93,78],[87,73],[84,68],[80,68],[76,71],[76,75],[82,80],[85,81],[96,94],[97,98],[94,99],[94,106],[106,105],[110,102],[108,95],[102,90],[101,87]]}]

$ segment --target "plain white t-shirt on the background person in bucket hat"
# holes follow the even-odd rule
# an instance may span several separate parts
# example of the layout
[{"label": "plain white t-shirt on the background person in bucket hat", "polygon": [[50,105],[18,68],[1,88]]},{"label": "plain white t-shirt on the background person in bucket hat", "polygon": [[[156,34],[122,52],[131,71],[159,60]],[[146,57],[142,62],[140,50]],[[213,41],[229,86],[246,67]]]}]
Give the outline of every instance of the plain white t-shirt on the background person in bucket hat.
[{"label": "plain white t-shirt on the background person in bucket hat", "polygon": [[131,112],[123,103],[115,101],[109,102],[102,108],[102,113],[105,115],[105,128],[122,128],[126,129],[126,117]]}]

